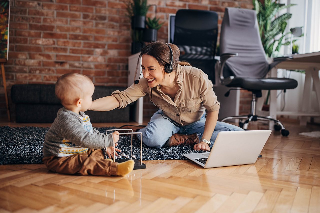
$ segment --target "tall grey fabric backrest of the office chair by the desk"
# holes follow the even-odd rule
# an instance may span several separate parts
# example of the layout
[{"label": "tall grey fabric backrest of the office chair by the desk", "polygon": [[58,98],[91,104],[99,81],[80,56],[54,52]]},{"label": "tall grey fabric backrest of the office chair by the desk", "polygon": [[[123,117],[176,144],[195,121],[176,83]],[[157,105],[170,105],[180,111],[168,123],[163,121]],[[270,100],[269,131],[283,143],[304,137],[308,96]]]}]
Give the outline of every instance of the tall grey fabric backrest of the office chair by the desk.
[{"label": "tall grey fabric backrest of the office chair by the desk", "polygon": [[231,72],[224,77],[263,78],[269,70],[269,63],[263,49],[256,11],[226,8],[221,25],[220,55],[238,53],[238,57],[227,60],[225,67]]}]

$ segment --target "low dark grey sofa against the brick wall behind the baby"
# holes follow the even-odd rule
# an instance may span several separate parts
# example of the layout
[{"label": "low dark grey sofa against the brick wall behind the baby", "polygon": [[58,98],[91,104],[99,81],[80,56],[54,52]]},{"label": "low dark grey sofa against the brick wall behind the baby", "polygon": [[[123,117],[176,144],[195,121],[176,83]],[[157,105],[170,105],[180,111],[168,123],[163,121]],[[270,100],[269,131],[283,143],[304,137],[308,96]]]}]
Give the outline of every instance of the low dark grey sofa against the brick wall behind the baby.
[{"label": "low dark grey sofa against the brick wall behind the baby", "polygon": [[[101,98],[115,90],[126,87],[96,86],[93,100]],[[54,84],[16,84],[11,88],[12,102],[16,104],[17,123],[52,123],[62,108],[55,96]],[[108,112],[87,111],[92,123],[97,122],[129,122],[130,107]]]}]

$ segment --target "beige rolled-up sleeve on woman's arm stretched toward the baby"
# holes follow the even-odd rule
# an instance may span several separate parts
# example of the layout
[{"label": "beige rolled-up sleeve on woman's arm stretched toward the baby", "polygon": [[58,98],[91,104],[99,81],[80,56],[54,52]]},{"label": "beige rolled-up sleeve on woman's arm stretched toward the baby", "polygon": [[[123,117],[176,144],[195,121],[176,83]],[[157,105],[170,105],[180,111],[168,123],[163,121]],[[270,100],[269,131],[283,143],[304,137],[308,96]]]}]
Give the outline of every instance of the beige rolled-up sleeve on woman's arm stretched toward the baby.
[{"label": "beige rolled-up sleeve on woman's arm stretched toward the baby", "polygon": [[124,91],[116,90],[111,95],[114,96],[120,103],[118,109],[126,107],[129,103],[138,100],[140,97],[147,94],[146,89],[144,89],[144,81],[141,79],[139,84],[132,84],[130,87]]}]

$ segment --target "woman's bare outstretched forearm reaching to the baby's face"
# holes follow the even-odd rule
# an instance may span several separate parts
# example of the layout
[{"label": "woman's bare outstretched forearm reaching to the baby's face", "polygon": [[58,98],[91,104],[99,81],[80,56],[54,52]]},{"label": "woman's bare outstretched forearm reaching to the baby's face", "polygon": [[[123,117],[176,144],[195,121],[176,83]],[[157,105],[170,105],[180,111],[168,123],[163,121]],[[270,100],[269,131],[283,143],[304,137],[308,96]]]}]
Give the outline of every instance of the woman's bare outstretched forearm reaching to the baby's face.
[{"label": "woman's bare outstretched forearm reaching to the baby's face", "polygon": [[112,95],[98,98],[92,101],[92,105],[88,110],[93,111],[110,111],[120,106],[119,101]]}]

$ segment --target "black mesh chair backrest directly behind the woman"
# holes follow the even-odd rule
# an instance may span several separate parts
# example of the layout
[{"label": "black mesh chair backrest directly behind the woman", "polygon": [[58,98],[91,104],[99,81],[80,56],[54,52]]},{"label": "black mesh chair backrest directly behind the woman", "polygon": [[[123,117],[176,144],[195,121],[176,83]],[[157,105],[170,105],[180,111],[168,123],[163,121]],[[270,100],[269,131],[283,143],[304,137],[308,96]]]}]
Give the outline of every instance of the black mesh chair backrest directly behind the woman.
[{"label": "black mesh chair backrest directly behind the woman", "polygon": [[203,70],[215,84],[218,14],[213,11],[179,10],[175,18],[174,41],[180,61]]}]

